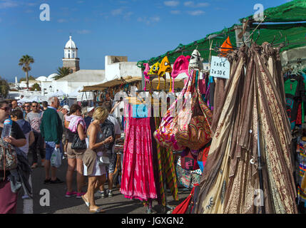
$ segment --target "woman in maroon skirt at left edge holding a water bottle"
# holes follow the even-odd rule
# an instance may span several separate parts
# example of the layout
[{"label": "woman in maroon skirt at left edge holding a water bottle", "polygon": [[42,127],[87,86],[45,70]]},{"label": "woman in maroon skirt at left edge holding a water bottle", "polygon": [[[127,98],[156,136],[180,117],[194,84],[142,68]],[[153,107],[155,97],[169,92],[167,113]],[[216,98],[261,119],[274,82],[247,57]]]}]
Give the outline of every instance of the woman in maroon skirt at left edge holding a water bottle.
[{"label": "woman in maroon skirt at left edge holding a water bottle", "polygon": [[[4,120],[9,118],[11,107],[5,100],[0,101],[0,133],[4,128]],[[0,139],[1,141],[9,142],[14,147],[23,147],[26,145],[26,137],[22,133],[21,128],[17,123],[12,121],[11,136],[6,139]],[[0,155],[3,154],[2,147],[0,148]],[[2,157],[2,156],[0,156]],[[3,157],[0,160],[1,164],[4,164]],[[10,170],[4,170],[6,167],[0,168],[0,214],[16,214],[17,209],[17,195],[11,190],[11,182],[8,176],[11,175]]]}]

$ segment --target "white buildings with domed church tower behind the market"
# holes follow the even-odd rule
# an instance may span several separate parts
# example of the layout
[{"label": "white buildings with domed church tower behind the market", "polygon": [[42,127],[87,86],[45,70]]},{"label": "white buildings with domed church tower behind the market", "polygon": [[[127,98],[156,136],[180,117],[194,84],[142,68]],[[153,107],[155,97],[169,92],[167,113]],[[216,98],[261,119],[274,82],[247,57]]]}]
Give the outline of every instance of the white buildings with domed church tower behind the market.
[{"label": "white buildings with domed church tower behind the market", "polygon": [[[78,48],[71,36],[63,51],[63,66],[67,66],[68,63],[73,64],[75,66],[73,73],[58,80],[54,80],[55,73],[48,77],[36,78],[36,81],[41,83],[41,95],[53,95],[61,91],[68,95],[69,93],[75,93],[78,88],[83,88],[83,86],[93,86],[126,76],[142,76],[141,68],[136,65],[137,62],[128,62],[127,56],[106,56],[105,70],[80,70],[78,68]],[[72,68],[71,66],[68,67]]]}]

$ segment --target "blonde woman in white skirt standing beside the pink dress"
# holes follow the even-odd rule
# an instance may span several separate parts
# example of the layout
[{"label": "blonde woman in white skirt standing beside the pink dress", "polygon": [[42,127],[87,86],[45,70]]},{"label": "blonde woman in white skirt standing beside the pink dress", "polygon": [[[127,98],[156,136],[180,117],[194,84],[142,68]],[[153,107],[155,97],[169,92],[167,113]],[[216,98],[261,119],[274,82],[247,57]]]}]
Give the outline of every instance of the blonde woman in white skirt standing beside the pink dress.
[{"label": "blonde woman in white skirt standing beside the pink dress", "polygon": [[89,207],[89,212],[102,213],[95,202],[94,194],[101,183],[106,181],[106,165],[103,164],[103,155],[106,153],[105,145],[113,142],[113,137],[106,138],[100,125],[108,118],[108,110],[98,107],[93,112],[93,121],[87,130],[89,147],[83,156],[84,175],[88,176],[88,190],[82,196],[83,201]]}]

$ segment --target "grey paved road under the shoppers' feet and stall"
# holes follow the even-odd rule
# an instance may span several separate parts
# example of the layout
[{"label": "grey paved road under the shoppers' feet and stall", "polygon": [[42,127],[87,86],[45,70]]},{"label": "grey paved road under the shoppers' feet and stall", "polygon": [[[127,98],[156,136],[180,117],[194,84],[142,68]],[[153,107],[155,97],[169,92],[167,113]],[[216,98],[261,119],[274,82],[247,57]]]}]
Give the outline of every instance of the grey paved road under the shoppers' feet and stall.
[{"label": "grey paved road under the shoppers' feet and stall", "polygon": [[[31,161],[31,155],[29,155]],[[58,169],[58,178],[66,179],[67,160]],[[23,190],[19,192],[17,213],[19,214],[88,214],[88,207],[82,199],[76,197],[65,197],[66,184],[62,185],[44,185],[44,167],[37,167],[31,175],[31,182],[34,192],[34,199],[22,199]],[[76,176],[76,175],[75,175]],[[87,181],[86,181],[87,182]],[[76,177],[73,180],[74,190],[76,190]],[[106,185],[107,188],[107,185]],[[41,190],[50,192],[50,205],[41,206],[40,201],[46,203],[46,194],[39,195]],[[83,188],[86,192],[86,187]],[[113,197],[101,199],[98,192],[96,193],[96,204],[106,210],[106,214],[147,214],[146,207],[138,199],[126,199],[118,189],[113,192]],[[188,192],[179,190],[179,201],[173,201],[173,197],[168,194],[169,206],[175,207],[188,196]],[[157,213],[165,213],[165,208],[160,207],[157,202],[153,202],[153,210]]]}]

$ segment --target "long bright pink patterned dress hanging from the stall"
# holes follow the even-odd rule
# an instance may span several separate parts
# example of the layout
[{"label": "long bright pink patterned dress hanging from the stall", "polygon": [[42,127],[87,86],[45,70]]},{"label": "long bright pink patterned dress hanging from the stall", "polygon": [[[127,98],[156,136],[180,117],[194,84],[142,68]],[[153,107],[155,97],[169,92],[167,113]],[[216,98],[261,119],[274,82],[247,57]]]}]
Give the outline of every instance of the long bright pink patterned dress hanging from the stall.
[{"label": "long bright pink patterned dress hanging from the stall", "polygon": [[121,193],[126,198],[156,199],[150,118],[128,118]]}]

